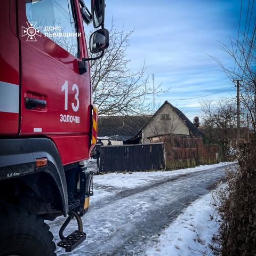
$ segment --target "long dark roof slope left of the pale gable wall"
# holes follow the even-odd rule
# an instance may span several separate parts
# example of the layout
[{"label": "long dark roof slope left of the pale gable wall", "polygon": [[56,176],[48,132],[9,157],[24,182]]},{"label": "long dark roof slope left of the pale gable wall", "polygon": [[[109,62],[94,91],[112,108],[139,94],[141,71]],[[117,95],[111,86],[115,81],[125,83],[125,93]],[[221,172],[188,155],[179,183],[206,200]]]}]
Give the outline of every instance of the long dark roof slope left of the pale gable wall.
[{"label": "long dark roof slope left of the pale gable wall", "polygon": [[100,116],[98,137],[137,135],[152,116]]}]

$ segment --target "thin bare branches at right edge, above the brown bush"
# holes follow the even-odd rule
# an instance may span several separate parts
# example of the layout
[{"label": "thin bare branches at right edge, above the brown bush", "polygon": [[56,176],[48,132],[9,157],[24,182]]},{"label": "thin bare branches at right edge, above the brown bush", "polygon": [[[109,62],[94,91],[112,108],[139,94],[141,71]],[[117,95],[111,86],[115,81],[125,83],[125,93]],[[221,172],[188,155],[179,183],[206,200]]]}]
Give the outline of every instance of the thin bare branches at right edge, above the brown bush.
[{"label": "thin bare branches at right edge, above the brown bush", "polygon": [[256,135],[256,46],[255,46],[255,31],[254,27],[252,37],[243,35],[243,41],[240,42],[236,39],[230,38],[231,46],[220,43],[220,47],[225,51],[235,62],[234,68],[225,67],[221,61],[215,57],[211,58],[218,62],[222,71],[234,81],[239,79],[241,103],[244,105],[246,112],[250,116],[250,126]]}]

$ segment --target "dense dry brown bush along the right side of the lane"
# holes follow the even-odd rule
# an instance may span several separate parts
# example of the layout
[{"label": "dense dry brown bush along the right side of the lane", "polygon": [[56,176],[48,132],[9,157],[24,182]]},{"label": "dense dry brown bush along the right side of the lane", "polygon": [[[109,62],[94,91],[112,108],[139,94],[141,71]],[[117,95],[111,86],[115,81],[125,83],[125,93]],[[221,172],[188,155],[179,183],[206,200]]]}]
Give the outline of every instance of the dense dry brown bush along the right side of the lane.
[{"label": "dense dry brown bush along the right side of the lane", "polygon": [[238,170],[226,170],[227,186],[213,196],[220,217],[213,250],[222,256],[256,255],[256,141],[237,158]]}]

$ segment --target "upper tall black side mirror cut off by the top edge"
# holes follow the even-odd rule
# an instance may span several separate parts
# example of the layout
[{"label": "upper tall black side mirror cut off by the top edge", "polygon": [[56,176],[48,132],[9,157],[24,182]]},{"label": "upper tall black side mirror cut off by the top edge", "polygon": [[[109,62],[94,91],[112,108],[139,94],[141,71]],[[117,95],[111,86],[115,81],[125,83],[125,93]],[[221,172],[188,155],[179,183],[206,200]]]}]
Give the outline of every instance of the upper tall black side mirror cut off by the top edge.
[{"label": "upper tall black side mirror cut off by the top edge", "polygon": [[91,0],[93,27],[104,25],[105,0]]}]

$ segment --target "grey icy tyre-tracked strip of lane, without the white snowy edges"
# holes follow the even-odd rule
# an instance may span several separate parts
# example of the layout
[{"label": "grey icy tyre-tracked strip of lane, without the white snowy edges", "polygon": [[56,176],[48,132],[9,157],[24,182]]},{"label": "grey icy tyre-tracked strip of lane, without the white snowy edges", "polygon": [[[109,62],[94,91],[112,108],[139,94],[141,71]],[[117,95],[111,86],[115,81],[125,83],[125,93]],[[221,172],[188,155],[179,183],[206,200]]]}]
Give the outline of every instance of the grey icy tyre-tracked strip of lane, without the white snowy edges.
[{"label": "grey icy tyre-tracked strip of lane, without the white snowy edges", "polygon": [[[181,174],[121,191],[109,197],[108,203],[106,199],[95,202],[83,217],[87,240],[71,255],[143,255],[148,241],[157,241],[158,234],[188,204],[223,178],[224,168]],[[58,228],[55,226],[54,232],[57,240]],[[74,231],[74,226],[67,231]],[[57,252],[59,256],[67,255],[62,249]]]}]

